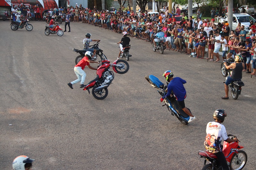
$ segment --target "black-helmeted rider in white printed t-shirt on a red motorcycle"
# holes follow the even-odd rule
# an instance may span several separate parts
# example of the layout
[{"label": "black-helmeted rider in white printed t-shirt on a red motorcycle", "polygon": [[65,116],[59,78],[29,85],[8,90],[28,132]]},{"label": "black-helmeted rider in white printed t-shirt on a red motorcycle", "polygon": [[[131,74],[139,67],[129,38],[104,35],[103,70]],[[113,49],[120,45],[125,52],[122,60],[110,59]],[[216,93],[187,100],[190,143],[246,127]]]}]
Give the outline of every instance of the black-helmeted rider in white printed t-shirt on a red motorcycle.
[{"label": "black-helmeted rider in white printed t-shirt on a red motorcycle", "polygon": [[211,152],[217,156],[220,165],[223,170],[229,170],[226,158],[222,152],[223,145],[221,140],[230,143],[237,141],[236,138],[229,139],[226,128],[221,123],[224,122],[225,117],[227,116],[224,109],[217,109],[213,113],[213,119],[215,122],[209,122],[206,126],[206,137],[204,141],[204,146],[207,152]]}]

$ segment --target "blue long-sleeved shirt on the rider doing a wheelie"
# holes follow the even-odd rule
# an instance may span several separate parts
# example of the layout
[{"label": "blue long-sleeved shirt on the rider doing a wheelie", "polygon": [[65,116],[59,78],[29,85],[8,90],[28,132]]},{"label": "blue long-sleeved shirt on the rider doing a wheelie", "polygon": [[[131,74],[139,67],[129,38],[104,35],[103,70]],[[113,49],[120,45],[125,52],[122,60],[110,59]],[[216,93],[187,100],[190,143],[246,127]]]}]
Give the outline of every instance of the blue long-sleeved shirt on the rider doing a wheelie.
[{"label": "blue long-sleeved shirt on the rider doing a wheelie", "polygon": [[183,85],[185,83],[187,83],[186,80],[183,80],[182,78],[179,78],[179,77],[173,78],[173,80],[170,81],[169,85],[167,86],[167,94],[163,96],[163,99],[166,96],[170,96],[171,92],[174,93],[178,101],[182,101],[186,99],[187,92]]}]

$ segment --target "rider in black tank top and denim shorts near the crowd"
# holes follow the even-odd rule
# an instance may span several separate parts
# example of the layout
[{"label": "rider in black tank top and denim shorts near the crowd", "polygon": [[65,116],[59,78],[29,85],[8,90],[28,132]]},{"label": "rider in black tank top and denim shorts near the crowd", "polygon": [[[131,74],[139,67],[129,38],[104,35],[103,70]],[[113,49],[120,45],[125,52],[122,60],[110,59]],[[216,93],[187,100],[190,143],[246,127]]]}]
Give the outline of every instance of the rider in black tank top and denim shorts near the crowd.
[{"label": "rider in black tank top and denim shorts near the crowd", "polygon": [[235,80],[241,80],[242,78],[242,71],[244,69],[244,63],[243,61],[243,57],[242,55],[236,55],[235,56],[235,62],[236,63],[232,63],[230,65],[227,65],[227,63],[225,62],[225,67],[226,69],[231,69],[232,68],[232,74],[231,76],[228,77],[228,79],[225,82],[225,96],[221,97],[221,99],[229,99],[228,97],[228,85]]}]

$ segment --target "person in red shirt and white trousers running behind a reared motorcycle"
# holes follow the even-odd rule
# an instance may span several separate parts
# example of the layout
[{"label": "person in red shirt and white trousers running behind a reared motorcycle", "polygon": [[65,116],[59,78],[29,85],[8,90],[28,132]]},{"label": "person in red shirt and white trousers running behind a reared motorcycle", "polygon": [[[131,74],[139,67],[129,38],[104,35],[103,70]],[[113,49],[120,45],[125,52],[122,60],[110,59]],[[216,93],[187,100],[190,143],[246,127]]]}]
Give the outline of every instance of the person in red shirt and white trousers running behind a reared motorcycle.
[{"label": "person in red shirt and white trousers running behind a reared motorcycle", "polygon": [[72,85],[74,85],[80,81],[81,81],[80,88],[84,88],[84,80],[86,77],[86,73],[84,72],[85,66],[88,66],[92,70],[97,70],[97,69],[91,67],[90,63],[100,63],[100,62],[91,61],[89,59],[92,59],[92,52],[87,51],[84,55],[84,58],[82,60],[80,60],[80,62],[77,63],[76,66],[74,67],[74,71],[76,73],[77,79],[75,81],[68,83],[68,86],[71,89],[73,89]]}]

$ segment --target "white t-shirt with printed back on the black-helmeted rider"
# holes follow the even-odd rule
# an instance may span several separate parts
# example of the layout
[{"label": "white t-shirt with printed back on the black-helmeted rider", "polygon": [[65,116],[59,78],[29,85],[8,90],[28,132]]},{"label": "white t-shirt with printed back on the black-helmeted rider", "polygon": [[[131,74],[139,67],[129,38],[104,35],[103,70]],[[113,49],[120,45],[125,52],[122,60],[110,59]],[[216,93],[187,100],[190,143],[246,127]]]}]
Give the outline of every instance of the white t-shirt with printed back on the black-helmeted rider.
[{"label": "white t-shirt with printed back on the black-helmeted rider", "polygon": [[206,134],[204,141],[205,149],[211,153],[220,152],[222,139],[228,139],[225,126],[218,122],[209,122],[206,126]]}]

